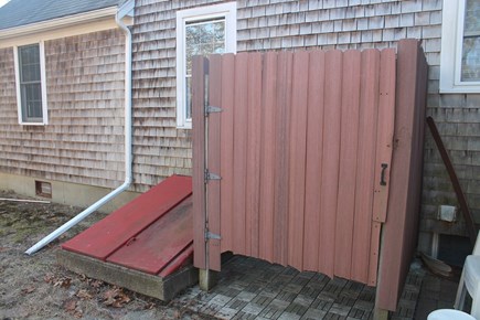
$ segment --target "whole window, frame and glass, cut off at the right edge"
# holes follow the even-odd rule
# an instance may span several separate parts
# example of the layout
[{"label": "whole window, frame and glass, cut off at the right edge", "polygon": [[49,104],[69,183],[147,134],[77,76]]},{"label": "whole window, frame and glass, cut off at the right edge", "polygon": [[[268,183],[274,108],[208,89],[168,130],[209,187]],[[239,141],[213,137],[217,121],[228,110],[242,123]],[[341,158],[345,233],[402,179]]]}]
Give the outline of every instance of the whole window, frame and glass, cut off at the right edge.
[{"label": "whole window, frame and glass, cut off at the right edge", "polygon": [[480,1],[444,0],[440,93],[480,93]]}]

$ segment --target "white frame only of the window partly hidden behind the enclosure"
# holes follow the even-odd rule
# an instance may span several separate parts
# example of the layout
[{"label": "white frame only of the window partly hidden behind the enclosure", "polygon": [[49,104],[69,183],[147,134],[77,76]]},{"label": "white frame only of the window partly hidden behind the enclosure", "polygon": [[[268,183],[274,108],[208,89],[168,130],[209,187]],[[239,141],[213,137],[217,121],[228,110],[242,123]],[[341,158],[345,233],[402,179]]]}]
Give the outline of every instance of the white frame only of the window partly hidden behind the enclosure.
[{"label": "white frame only of the window partly hidden behind the enclosure", "polygon": [[189,22],[225,19],[225,53],[236,53],[236,2],[177,11],[177,128],[191,129],[185,109],[185,25]]}]

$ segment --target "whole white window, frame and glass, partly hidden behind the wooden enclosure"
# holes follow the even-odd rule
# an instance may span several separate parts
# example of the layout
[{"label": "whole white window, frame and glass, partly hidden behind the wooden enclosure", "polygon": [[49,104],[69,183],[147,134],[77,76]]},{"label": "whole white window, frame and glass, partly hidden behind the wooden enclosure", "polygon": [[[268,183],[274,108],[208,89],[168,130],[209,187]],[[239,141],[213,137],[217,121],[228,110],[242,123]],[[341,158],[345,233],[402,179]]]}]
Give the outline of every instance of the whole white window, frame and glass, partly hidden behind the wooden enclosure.
[{"label": "whole white window, frame and glass, partly hidden behind the wooden enclosure", "polygon": [[236,52],[236,3],[177,12],[177,127],[192,128],[192,57]]}]

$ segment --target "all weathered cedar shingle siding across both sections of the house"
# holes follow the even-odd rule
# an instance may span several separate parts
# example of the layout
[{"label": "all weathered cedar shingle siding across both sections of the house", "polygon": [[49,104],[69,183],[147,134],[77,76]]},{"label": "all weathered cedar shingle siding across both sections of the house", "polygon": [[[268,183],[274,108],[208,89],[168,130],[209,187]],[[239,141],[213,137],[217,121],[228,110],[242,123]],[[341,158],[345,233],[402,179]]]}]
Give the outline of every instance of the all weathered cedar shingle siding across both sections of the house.
[{"label": "all weathered cedar shingle siding across both sections of the house", "polygon": [[[190,174],[191,130],[175,128],[175,12],[207,0],[137,0],[134,34],[134,179],[146,191]],[[470,207],[480,222],[480,95],[439,95],[441,0],[237,1],[237,51],[394,47],[423,40],[429,64],[428,114],[436,119]],[[45,127],[17,124],[12,49],[0,49],[0,171],[117,186],[124,179],[124,35],[106,31],[49,41]],[[456,204],[426,134],[423,231],[462,233],[436,220]],[[3,156],[4,154],[4,156]]]}]

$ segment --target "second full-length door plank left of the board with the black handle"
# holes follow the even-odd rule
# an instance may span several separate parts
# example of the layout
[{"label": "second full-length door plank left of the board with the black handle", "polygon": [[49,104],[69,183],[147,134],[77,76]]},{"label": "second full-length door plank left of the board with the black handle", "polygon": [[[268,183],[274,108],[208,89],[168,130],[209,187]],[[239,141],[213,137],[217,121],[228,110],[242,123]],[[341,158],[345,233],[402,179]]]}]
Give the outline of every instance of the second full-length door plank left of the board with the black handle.
[{"label": "second full-length door plank left of the board with the black handle", "polygon": [[339,198],[335,226],[335,275],[350,278],[355,213],[360,117],[360,51],[343,54]]}]

